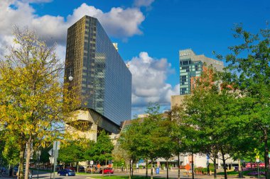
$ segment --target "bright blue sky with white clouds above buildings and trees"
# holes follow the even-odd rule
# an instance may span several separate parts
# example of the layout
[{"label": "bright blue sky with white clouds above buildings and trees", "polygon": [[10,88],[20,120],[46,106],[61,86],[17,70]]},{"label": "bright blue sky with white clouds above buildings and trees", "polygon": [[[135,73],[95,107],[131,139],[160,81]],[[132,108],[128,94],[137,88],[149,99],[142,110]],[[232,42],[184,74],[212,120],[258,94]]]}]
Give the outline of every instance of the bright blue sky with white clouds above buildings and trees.
[{"label": "bright blue sky with white clouds above buildings and trees", "polygon": [[[82,16],[98,18],[119,54],[130,64],[132,116],[148,103],[170,109],[179,94],[179,50],[215,58],[239,41],[234,25],[257,33],[269,28],[269,0],[0,0],[0,57],[12,43],[12,28],[36,30],[65,60],[67,30]],[[226,65],[226,63],[225,63]]]}]

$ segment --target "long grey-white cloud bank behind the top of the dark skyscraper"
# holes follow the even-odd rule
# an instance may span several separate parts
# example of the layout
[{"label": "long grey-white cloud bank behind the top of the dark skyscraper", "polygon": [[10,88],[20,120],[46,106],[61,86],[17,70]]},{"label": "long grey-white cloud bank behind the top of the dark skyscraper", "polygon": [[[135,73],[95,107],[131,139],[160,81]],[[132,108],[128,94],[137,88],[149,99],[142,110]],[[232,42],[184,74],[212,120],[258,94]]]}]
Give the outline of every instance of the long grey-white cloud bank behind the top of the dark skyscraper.
[{"label": "long grey-white cloud bank behind the top of the dark skyscraper", "polygon": [[[49,44],[58,42],[65,45],[68,27],[82,16],[88,15],[99,19],[107,33],[112,37],[125,40],[133,35],[140,35],[140,25],[144,21],[144,14],[139,8],[112,8],[109,12],[82,4],[75,8],[68,17],[38,16],[33,3],[48,3],[51,0],[1,0],[0,6],[0,55],[4,47],[10,45],[13,25],[36,30]],[[65,20],[66,18],[66,20]]]}]

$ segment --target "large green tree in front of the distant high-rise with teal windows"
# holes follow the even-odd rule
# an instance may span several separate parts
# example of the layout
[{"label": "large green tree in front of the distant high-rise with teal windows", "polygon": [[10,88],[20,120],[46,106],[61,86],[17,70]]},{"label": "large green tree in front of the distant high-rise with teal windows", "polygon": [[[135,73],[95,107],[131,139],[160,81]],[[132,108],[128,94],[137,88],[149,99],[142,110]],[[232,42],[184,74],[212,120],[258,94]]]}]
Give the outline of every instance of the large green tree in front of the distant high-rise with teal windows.
[{"label": "large green tree in front of the distant high-rise with teal windows", "polygon": [[[240,131],[234,129],[234,119],[241,110],[238,93],[234,93],[232,88],[220,89],[219,79],[219,73],[207,67],[196,81],[193,94],[185,98],[181,108],[183,112],[178,111],[178,119],[182,118],[179,125],[183,127],[179,129],[185,134],[181,140],[185,151],[210,155],[214,166],[220,153],[227,178],[225,154],[234,154],[238,149],[234,144]],[[235,133],[231,132],[232,129]]]}]

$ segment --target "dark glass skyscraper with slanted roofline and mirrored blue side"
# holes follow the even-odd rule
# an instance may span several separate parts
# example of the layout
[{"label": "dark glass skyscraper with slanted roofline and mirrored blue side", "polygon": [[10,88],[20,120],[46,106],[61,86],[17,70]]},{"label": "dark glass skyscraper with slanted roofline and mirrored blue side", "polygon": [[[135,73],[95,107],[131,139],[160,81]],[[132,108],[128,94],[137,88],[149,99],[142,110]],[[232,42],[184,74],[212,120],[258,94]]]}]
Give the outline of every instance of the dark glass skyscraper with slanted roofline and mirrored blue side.
[{"label": "dark glass skyscraper with slanted roofline and mirrored blue side", "polygon": [[65,83],[77,87],[80,107],[117,125],[131,118],[131,72],[97,18],[84,16],[68,28]]}]

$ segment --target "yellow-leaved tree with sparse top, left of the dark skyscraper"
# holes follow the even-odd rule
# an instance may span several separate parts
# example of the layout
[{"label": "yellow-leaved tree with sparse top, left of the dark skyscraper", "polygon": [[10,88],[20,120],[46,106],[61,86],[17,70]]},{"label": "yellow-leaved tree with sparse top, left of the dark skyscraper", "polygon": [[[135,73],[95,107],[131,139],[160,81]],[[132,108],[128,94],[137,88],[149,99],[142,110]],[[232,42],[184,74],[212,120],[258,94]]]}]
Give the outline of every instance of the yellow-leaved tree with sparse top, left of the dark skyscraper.
[{"label": "yellow-leaved tree with sparse top, left of the dark skyscraper", "polygon": [[[78,100],[60,83],[63,64],[55,45],[48,47],[33,31],[18,28],[13,42],[0,61],[0,126],[5,127],[3,139],[12,136],[18,144],[22,179],[24,151],[28,178],[32,149],[68,137],[63,123],[72,118]],[[63,134],[66,137],[60,137]]]}]

